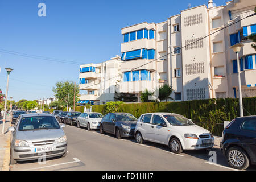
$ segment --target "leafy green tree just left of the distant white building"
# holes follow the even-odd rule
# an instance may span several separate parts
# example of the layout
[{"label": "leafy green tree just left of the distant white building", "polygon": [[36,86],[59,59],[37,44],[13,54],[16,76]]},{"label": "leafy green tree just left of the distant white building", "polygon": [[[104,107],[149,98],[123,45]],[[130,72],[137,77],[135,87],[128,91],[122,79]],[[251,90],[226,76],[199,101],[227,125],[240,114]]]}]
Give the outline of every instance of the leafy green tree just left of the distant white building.
[{"label": "leafy green tree just left of the distant white building", "polygon": [[[56,82],[56,86],[52,88],[52,91],[55,93],[55,97],[59,100],[60,104],[64,107],[67,107],[68,103],[68,93],[69,93],[69,106],[73,108],[73,99],[74,99],[74,87],[75,82],[72,81],[59,81]],[[76,85],[76,95],[75,95],[75,105],[79,101],[79,85]]]}]

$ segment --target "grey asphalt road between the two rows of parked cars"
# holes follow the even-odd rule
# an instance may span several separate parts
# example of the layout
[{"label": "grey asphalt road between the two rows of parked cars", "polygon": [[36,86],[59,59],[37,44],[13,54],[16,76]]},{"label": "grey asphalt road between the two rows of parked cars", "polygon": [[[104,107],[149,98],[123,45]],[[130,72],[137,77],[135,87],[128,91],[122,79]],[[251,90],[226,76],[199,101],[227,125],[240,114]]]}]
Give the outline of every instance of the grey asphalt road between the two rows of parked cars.
[{"label": "grey asphalt road between the two rows of parked cars", "polygon": [[98,130],[67,125],[64,131],[68,138],[65,158],[47,159],[46,164],[19,162],[11,165],[11,170],[234,170],[229,168],[218,146],[212,149],[217,152],[217,164],[209,164],[210,150],[173,154],[162,144],[138,144],[134,138],[116,139]]}]

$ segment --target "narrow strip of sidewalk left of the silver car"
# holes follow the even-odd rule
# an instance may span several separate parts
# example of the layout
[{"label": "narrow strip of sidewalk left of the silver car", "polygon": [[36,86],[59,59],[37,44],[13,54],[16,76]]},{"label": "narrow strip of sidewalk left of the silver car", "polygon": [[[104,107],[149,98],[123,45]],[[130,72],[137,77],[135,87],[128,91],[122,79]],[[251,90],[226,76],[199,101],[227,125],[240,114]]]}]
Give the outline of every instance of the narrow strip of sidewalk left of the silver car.
[{"label": "narrow strip of sidewalk left of the silver car", "polygon": [[10,117],[6,117],[5,122],[5,134],[2,133],[3,119],[0,119],[0,171],[7,170],[9,171],[9,162],[10,162],[10,137],[11,133],[7,132],[8,127],[10,127]]}]

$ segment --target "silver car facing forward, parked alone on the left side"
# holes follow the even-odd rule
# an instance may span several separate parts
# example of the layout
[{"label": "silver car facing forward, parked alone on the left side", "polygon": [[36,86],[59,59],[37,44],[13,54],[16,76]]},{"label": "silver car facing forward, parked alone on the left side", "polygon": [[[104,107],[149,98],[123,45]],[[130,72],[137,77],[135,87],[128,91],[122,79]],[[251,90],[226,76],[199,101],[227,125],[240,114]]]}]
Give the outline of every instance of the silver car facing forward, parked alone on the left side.
[{"label": "silver car facing forward, parked alone on the left side", "polygon": [[10,163],[67,155],[65,125],[59,124],[52,114],[22,114],[11,135]]}]

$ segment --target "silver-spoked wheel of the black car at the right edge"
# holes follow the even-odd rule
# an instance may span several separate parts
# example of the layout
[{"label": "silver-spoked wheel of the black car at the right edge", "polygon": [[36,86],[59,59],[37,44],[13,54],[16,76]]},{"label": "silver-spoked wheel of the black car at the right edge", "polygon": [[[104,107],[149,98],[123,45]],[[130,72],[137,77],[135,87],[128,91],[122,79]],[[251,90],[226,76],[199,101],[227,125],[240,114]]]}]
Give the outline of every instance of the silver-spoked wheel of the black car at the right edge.
[{"label": "silver-spoked wheel of the black car at the right edge", "polygon": [[246,152],[239,147],[231,147],[226,152],[226,159],[231,167],[235,169],[246,169],[249,167],[249,157]]}]

